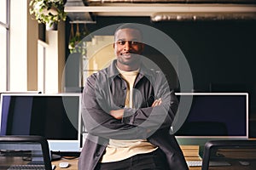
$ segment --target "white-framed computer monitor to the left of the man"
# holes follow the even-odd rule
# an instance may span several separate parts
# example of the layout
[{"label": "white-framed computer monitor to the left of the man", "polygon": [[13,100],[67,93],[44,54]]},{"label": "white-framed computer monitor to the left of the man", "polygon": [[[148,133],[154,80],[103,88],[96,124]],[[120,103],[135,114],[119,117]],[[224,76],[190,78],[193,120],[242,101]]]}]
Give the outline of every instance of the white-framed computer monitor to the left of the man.
[{"label": "white-framed computer monitor to the left of the man", "polygon": [[81,94],[2,94],[1,135],[39,135],[49,150],[80,150]]}]

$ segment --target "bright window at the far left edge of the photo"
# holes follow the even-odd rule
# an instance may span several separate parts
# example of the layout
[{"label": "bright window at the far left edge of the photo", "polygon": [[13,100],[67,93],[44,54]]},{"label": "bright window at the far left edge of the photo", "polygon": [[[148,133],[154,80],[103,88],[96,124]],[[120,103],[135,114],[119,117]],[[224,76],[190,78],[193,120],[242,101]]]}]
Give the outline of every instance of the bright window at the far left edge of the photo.
[{"label": "bright window at the far left edge of the photo", "polygon": [[9,0],[0,1],[0,91],[8,90]]}]

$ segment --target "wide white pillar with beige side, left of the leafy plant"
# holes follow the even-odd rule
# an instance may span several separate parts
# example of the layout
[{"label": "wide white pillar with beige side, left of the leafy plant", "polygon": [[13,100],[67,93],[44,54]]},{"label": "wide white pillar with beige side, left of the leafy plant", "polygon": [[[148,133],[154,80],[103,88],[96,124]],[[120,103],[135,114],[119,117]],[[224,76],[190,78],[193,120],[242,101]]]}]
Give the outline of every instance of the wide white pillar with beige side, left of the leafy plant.
[{"label": "wide white pillar with beige side, left of the leafy plant", "polygon": [[37,39],[28,1],[10,1],[10,91],[37,90]]}]

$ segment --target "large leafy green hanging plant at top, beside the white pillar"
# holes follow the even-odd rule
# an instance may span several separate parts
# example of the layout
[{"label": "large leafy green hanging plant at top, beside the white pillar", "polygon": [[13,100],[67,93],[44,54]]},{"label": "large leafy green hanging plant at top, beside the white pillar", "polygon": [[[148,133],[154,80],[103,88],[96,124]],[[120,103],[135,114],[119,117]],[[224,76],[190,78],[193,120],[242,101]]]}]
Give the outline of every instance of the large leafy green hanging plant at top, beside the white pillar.
[{"label": "large leafy green hanging plant at top, beside the white pillar", "polygon": [[29,5],[29,12],[35,16],[38,23],[49,27],[67,18],[63,0],[32,0]]}]

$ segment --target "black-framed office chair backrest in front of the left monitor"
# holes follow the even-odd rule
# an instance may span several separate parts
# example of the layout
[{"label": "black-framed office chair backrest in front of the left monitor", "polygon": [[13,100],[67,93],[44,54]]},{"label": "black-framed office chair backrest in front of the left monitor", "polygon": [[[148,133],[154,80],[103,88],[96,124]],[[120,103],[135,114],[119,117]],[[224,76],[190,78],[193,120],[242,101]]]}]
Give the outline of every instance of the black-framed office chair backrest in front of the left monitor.
[{"label": "black-framed office chair backrest in front of the left monitor", "polygon": [[0,169],[25,165],[51,169],[47,140],[41,136],[0,136]]}]

